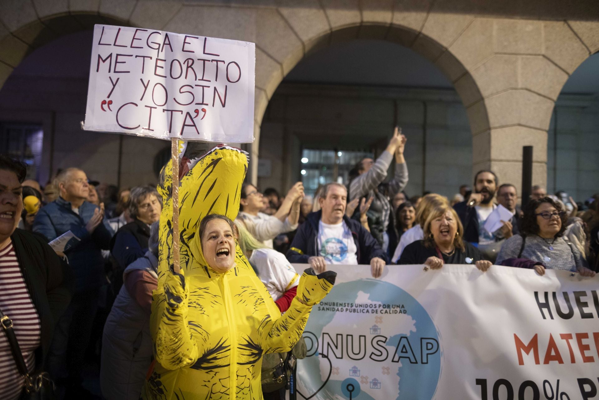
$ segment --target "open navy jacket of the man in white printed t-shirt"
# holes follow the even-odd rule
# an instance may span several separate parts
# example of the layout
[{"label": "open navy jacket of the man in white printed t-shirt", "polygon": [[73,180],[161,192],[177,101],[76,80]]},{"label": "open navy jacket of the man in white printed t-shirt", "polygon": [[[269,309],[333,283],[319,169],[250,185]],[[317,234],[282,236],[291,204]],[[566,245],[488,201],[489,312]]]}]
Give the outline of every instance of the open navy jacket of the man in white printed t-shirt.
[{"label": "open navy jacket of the man in white printed t-shirt", "polygon": [[[305,222],[299,226],[294,241],[291,243],[291,248],[289,248],[286,254],[289,262],[307,264],[308,258],[317,255],[316,241],[321,216],[322,211],[311,212],[306,217]],[[347,218],[346,215],[343,216],[343,221],[345,221],[349,230],[352,231],[353,242],[356,243],[358,251],[358,254],[356,254],[358,264],[370,264],[370,260],[374,257],[382,258],[386,263],[389,262],[387,255],[380,248],[379,242],[358,221]]]}]

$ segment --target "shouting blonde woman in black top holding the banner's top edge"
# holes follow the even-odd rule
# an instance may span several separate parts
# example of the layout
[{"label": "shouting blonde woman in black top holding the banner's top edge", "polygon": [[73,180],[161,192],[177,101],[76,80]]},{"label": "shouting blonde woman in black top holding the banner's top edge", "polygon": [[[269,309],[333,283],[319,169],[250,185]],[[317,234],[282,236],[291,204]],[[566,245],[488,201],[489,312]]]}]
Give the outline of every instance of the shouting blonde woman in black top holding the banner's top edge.
[{"label": "shouting blonde woman in black top holding the banner's top edge", "polygon": [[476,247],[462,240],[462,222],[447,203],[432,207],[423,233],[423,240],[406,246],[398,264],[426,264],[431,269],[439,269],[443,264],[474,264],[483,272],[491,266],[491,261],[483,260]]}]

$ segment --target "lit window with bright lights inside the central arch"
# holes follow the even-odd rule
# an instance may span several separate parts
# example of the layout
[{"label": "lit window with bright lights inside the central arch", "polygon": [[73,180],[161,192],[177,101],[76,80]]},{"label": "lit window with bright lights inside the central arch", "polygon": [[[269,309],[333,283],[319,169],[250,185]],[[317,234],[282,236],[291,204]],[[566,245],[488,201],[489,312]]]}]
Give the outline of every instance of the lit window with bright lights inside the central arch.
[{"label": "lit window with bright lights inside the central arch", "polygon": [[320,185],[329,182],[349,184],[349,172],[363,158],[373,158],[372,152],[304,149],[299,170],[305,194],[314,196]]}]

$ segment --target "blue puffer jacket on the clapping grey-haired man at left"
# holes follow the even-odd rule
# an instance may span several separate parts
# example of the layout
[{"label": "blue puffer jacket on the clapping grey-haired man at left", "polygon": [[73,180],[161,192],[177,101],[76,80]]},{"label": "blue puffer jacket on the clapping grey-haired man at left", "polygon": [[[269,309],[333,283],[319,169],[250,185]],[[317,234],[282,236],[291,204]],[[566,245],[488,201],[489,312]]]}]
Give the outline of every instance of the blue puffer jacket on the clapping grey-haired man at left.
[{"label": "blue puffer jacket on the clapping grey-haired man at left", "polygon": [[110,238],[114,234],[104,218],[92,234],[85,225],[93,216],[95,204],[83,201],[79,214],[73,212],[71,203],[59,197],[52,203],[41,207],[35,216],[33,230],[43,234],[48,242],[56,239],[69,230],[81,239],[80,242],[65,251],[69,265],[75,275],[75,291],[83,291],[100,287],[106,282],[104,273],[104,258],[101,250],[108,249]]}]

